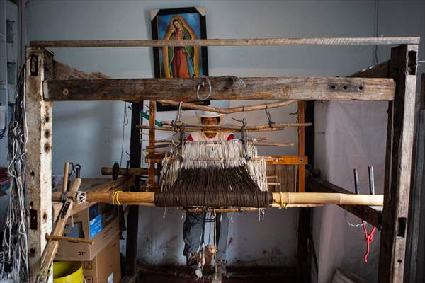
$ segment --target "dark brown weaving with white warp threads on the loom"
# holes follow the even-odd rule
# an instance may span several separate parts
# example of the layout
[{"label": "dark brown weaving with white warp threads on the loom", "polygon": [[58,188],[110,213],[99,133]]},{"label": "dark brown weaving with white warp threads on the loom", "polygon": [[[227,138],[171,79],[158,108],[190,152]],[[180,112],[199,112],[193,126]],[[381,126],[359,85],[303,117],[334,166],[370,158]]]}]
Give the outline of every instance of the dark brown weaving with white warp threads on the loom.
[{"label": "dark brown weaving with white warp threads on the loom", "polygon": [[266,161],[253,142],[186,141],[162,163],[157,206],[268,207]]}]

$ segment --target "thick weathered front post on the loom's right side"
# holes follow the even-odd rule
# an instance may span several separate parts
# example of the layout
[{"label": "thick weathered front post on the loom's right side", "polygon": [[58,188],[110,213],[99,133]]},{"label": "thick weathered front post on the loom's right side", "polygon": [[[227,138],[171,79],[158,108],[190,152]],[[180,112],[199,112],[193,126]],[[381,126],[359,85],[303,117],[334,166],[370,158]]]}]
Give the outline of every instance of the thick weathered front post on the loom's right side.
[{"label": "thick weathered front post on the loom's right side", "polygon": [[402,282],[409,210],[417,45],[391,50],[395,100],[389,103],[379,282]]}]

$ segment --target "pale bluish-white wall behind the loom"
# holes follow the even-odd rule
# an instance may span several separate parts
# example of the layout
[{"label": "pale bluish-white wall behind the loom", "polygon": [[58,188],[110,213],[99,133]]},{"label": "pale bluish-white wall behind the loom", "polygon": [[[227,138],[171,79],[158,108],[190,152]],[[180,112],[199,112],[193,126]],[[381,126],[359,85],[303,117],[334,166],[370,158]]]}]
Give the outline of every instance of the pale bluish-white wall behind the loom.
[{"label": "pale bluish-white wall behind the loom", "polygon": [[[424,8],[421,3],[380,1],[378,33],[423,34]],[[374,33],[374,1],[30,1],[28,40],[151,38],[150,10],[186,6],[205,6],[210,38],[356,37],[373,36]],[[401,23],[396,23],[396,19]],[[421,30],[416,30],[418,26]],[[152,50],[149,48],[70,48],[53,51],[57,59],[84,71],[101,71],[115,78],[153,76]],[[388,49],[382,48],[378,54],[381,59],[387,59]],[[209,47],[208,55],[211,76],[344,76],[373,64],[373,47],[362,46]],[[241,102],[222,104],[233,106]],[[273,110],[272,117],[280,122],[293,121],[288,114],[295,111],[295,105],[292,105],[283,110]],[[322,119],[326,111],[317,108],[317,118]],[[174,113],[158,116],[159,119],[171,120]],[[191,112],[186,112],[184,117],[191,117]],[[328,119],[331,117],[329,114]],[[250,113],[248,119],[256,124],[266,121],[261,112]],[[53,123],[55,173],[60,174],[64,161],[71,159],[81,163],[84,177],[96,177],[100,175],[101,166],[110,166],[113,161],[119,161],[123,103],[55,103]],[[130,129],[126,127],[124,152],[129,150],[129,137]],[[271,137],[295,141],[296,132],[286,129],[280,133],[273,132]],[[320,142],[318,135],[317,140]],[[263,153],[273,154],[296,152],[296,148],[262,150]],[[317,144],[317,151],[324,151],[324,144]],[[324,161],[326,158],[327,151],[322,154],[318,152],[317,165],[325,174],[334,168]],[[343,161],[339,163],[340,168],[351,172],[351,165]],[[350,184],[348,178],[347,185]],[[325,207],[319,214],[332,216],[336,213],[328,209],[337,210]],[[138,256],[154,264],[183,264],[181,212],[167,209],[165,219],[162,219],[163,214],[164,209],[141,209]],[[319,216],[315,216],[317,221],[314,224],[317,228],[315,232],[319,229],[315,233],[315,238],[318,238],[317,253],[322,262],[327,262],[329,258],[334,262],[320,265],[319,282],[329,282],[334,267],[338,265],[332,256],[338,255],[338,259],[341,259],[341,253],[338,249],[322,246],[327,226],[319,226],[323,222]],[[232,244],[227,257],[232,265],[295,265],[296,209],[270,209],[266,212],[265,221],[258,221],[256,214],[235,214],[233,221],[229,236],[232,237]],[[282,228],[276,229],[276,226]],[[345,236],[349,241],[351,238],[361,238],[356,232],[352,236],[341,217],[334,219],[333,226],[339,228],[336,235],[341,239]],[[344,248],[344,244],[341,245]],[[375,246],[378,246],[378,241]],[[355,248],[361,250],[363,244],[358,243]],[[361,256],[347,252],[343,258],[356,262],[358,268],[353,270],[363,271]]]}]

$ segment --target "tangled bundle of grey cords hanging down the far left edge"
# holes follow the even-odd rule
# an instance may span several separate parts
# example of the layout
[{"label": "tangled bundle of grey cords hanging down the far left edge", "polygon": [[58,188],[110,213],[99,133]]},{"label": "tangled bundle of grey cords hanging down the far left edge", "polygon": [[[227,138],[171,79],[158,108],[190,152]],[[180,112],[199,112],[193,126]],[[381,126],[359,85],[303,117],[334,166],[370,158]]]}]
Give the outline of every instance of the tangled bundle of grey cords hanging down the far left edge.
[{"label": "tangled bundle of grey cords hanging down the far left edge", "polygon": [[26,100],[25,66],[21,68],[15,106],[8,129],[8,174],[11,177],[9,203],[4,218],[0,252],[0,279],[29,282],[28,236],[26,228]]}]

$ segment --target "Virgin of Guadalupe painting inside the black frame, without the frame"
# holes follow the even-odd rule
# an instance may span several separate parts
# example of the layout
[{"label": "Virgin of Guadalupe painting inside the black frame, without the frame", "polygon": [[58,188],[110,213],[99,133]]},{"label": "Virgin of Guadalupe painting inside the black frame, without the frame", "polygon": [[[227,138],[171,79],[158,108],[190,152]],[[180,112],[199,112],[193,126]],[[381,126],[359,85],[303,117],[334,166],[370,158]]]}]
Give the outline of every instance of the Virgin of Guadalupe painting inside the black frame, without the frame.
[{"label": "Virgin of Guadalupe painting inside the black frame, without the frame", "polygon": [[[183,18],[171,18],[164,40],[192,40],[196,35]],[[164,74],[166,78],[193,78],[199,76],[199,47],[163,47]]]}]

